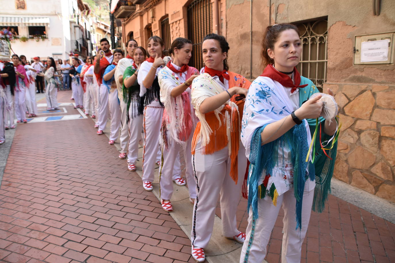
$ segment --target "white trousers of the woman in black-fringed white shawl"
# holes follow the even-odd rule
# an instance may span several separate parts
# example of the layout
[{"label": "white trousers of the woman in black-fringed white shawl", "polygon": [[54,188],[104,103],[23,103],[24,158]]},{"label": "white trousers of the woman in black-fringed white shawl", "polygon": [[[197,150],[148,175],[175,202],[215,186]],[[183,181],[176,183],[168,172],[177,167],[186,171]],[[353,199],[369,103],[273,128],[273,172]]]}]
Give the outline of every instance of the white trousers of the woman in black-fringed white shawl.
[{"label": "white trousers of the woman in black-fringed white shawl", "polygon": [[159,136],[163,109],[150,106],[144,108],[143,181],[154,181],[154,165],[160,159]]}]

